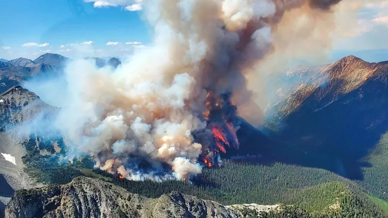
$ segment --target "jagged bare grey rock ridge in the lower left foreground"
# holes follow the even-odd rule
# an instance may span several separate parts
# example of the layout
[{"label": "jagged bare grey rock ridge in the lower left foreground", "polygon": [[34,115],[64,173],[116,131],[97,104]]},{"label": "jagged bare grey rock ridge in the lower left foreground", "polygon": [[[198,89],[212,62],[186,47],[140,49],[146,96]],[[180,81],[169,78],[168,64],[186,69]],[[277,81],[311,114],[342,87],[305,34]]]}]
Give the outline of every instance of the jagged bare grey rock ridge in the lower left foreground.
[{"label": "jagged bare grey rock ridge in the lower left foreground", "polygon": [[63,186],[16,191],[5,218],[237,218],[217,202],[172,192],[158,199],[88,177]]}]

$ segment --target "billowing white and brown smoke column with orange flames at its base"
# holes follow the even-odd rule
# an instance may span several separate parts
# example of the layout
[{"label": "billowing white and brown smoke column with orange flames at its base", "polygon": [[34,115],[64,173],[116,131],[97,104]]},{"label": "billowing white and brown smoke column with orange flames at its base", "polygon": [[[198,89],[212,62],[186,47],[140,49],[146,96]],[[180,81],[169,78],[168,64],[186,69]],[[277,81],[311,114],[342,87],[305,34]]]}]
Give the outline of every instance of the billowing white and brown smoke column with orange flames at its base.
[{"label": "billowing white and brown smoke column with orange flames at its base", "polygon": [[[128,179],[187,179],[239,147],[244,67],[271,51],[287,10],[329,10],[338,0],[148,0],[152,46],[115,71],[76,61],[57,123],[69,146]],[[239,104],[243,104],[240,102]],[[259,111],[258,111],[259,112]]]}]

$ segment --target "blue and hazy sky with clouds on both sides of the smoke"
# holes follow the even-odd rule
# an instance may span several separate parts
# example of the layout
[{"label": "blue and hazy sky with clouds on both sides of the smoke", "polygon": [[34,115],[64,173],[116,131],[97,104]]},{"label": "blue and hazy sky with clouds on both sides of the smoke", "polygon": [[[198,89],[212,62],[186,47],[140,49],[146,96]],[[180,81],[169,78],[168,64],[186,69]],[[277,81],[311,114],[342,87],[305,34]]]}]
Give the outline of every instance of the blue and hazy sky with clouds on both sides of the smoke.
[{"label": "blue and hazy sky with clouds on both sides of the smoke", "polygon": [[[124,56],[148,44],[143,0],[3,0],[0,58]],[[353,32],[335,41],[333,58],[388,60],[388,0],[344,0],[358,9]]]}]

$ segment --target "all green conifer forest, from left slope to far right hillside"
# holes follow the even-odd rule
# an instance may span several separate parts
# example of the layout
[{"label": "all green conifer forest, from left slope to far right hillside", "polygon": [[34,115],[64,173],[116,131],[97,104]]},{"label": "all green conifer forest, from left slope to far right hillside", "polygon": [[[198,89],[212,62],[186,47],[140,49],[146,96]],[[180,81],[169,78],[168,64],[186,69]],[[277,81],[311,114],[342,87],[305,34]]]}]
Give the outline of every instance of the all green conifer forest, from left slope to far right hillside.
[{"label": "all green conifer forest, from left slope to far right hillside", "polygon": [[[351,181],[319,168],[278,162],[264,164],[260,157],[250,158],[249,161],[225,159],[222,167],[204,168],[202,174],[191,179],[190,184],[175,180],[154,182],[119,179],[105,171],[93,169],[94,164],[88,158],[74,160],[72,164],[61,164],[59,157],[42,156],[33,146],[26,146],[29,150],[23,161],[27,166],[26,172],[37,182],[46,184],[65,184],[77,176],[86,175],[149,198],[178,191],[224,205],[283,204],[281,212],[262,215],[267,218],[378,218],[388,213],[388,204],[384,201],[387,198],[383,194],[388,187],[384,173],[388,171],[385,158],[388,154],[387,137],[384,136],[375,151],[365,158],[371,166],[363,168],[365,179],[362,181]],[[332,210],[330,206],[338,209]],[[252,211],[244,213],[255,215]]]}]

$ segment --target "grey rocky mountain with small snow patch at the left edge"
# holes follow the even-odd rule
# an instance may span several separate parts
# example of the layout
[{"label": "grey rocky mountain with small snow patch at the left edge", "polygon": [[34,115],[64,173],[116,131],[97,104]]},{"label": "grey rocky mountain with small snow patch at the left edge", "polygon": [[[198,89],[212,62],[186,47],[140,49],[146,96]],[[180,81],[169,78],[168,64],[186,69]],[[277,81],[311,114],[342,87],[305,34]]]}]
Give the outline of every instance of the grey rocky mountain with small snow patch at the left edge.
[{"label": "grey rocky mountain with small snow patch at the left edge", "polygon": [[[39,141],[41,139],[28,133],[27,129],[30,128],[32,132],[35,132],[35,126],[29,125],[29,122],[40,122],[48,119],[56,111],[56,108],[44,103],[35,93],[29,92],[21,86],[14,86],[0,94],[0,152],[13,156],[16,164],[0,158],[2,176],[0,177],[0,186],[2,187],[0,211],[1,205],[10,200],[14,190],[32,188],[38,185],[26,174],[22,157],[36,156],[32,151],[39,154],[47,149],[47,146],[45,146],[44,140]],[[16,126],[20,126],[20,128],[12,128]],[[2,209],[4,208],[5,206]]]}]

